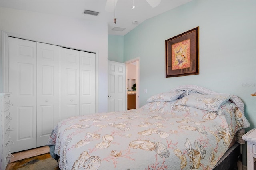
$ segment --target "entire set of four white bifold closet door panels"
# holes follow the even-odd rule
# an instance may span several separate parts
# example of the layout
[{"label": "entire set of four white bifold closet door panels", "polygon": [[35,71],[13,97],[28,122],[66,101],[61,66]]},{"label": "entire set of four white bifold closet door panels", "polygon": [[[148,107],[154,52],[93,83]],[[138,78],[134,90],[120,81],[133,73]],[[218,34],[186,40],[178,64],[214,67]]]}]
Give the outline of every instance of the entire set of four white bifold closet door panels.
[{"label": "entire set of four white bifold closet door panels", "polygon": [[45,146],[60,119],[96,111],[95,53],[8,38],[11,152]]}]

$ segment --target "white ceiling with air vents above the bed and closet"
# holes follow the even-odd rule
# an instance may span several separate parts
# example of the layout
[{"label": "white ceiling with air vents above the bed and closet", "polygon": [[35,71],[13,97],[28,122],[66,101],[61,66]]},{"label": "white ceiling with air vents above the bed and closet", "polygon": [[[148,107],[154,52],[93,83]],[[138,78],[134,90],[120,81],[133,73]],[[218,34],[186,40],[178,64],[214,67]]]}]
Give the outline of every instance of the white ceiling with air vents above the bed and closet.
[{"label": "white ceiling with air vents above the bed and closet", "polygon": [[[159,1],[160,4],[154,8],[149,4]],[[110,6],[107,5],[107,7],[107,0],[0,0],[0,6],[107,22],[108,34],[123,36],[144,20],[190,1],[191,0],[134,0],[134,9],[132,9],[133,0],[108,0],[108,5],[110,4]],[[116,9],[114,10],[115,2]],[[111,4],[113,4],[112,7]],[[92,16],[84,14],[84,10],[92,10],[100,13],[98,16]],[[114,24],[113,21],[114,16],[117,18],[116,24]],[[134,21],[137,21],[138,24],[132,24]],[[123,31],[113,31],[112,28],[114,27],[125,29]]]}]

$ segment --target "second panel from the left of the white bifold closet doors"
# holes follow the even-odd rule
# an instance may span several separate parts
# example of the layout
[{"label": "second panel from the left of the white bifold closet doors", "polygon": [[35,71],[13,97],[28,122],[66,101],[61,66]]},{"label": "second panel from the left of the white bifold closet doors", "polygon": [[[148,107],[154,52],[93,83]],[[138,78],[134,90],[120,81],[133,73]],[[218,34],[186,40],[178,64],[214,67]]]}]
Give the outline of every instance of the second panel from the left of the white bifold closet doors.
[{"label": "second panel from the left of the white bifold closet doors", "polygon": [[60,121],[60,47],[37,43],[37,142],[45,146]]}]

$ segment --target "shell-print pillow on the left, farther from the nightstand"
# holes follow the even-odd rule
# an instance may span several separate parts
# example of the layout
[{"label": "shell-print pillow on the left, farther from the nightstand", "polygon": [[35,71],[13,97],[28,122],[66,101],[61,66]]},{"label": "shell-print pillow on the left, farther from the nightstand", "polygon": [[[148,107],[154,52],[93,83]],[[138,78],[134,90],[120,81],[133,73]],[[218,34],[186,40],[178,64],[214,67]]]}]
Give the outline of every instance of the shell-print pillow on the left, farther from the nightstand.
[{"label": "shell-print pillow on the left, farther from the nightstand", "polygon": [[183,91],[159,93],[157,95],[153,95],[150,98],[148,98],[147,102],[173,101],[173,100],[176,100],[182,93]]}]

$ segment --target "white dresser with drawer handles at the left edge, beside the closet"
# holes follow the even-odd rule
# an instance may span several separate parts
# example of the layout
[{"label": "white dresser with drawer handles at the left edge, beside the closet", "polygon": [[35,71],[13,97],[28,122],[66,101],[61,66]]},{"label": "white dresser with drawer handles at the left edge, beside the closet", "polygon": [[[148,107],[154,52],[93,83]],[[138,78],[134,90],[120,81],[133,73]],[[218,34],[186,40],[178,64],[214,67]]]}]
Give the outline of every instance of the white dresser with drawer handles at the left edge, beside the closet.
[{"label": "white dresser with drawer handles at the left edge, beside the closet", "polygon": [[5,170],[7,164],[12,158],[10,147],[13,144],[10,138],[10,132],[13,130],[10,127],[12,114],[10,113],[10,93],[0,93],[0,170]]}]

